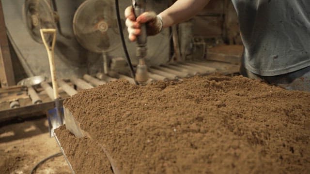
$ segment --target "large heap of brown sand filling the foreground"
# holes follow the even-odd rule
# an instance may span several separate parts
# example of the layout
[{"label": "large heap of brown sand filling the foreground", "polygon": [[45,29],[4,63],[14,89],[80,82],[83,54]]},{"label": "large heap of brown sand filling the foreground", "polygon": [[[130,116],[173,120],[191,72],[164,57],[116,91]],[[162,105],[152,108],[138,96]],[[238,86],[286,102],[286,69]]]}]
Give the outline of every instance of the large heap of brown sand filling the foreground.
[{"label": "large heap of brown sand filling the foreground", "polygon": [[[146,87],[121,80],[65,101],[125,174],[309,173],[309,106],[310,93],[219,75]],[[64,143],[74,166],[88,150],[84,139]]]}]

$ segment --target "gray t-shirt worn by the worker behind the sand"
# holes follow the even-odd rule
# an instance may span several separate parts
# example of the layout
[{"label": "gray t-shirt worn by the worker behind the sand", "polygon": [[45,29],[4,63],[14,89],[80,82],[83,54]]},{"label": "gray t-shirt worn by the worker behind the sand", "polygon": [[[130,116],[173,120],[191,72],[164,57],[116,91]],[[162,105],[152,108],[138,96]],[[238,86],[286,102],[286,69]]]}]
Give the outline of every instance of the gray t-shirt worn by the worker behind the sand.
[{"label": "gray t-shirt worn by the worker behind the sand", "polygon": [[274,76],[310,66],[310,0],[232,0],[245,68]]}]

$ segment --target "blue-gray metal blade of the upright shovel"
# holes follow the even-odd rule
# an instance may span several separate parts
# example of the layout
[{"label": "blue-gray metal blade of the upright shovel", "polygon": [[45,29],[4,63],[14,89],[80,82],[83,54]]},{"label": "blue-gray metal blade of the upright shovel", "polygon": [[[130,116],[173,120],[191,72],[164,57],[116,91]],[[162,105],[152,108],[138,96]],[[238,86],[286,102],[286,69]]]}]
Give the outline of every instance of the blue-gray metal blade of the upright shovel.
[{"label": "blue-gray metal blade of the upright shovel", "polygon": [[54,136],[54,130],[63,124],[63,108],[54,108],[47,111],[48,129],[50,137]]}]

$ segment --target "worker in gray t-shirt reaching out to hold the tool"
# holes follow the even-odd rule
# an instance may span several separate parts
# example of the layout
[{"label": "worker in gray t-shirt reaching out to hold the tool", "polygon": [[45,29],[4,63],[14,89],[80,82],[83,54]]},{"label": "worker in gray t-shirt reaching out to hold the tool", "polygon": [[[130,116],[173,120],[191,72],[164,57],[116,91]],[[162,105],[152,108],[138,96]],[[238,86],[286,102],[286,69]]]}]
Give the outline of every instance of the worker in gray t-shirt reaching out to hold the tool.
[{"label": "worker in gray t-shirt reaching out to hold the tool", "polygon": [[[129,40],[190,19],[210,0],[177,0],[156,15],[125,10]],[[241,74],[290,90],[310,91],[310,0],[232,0],[245,47]]]}]

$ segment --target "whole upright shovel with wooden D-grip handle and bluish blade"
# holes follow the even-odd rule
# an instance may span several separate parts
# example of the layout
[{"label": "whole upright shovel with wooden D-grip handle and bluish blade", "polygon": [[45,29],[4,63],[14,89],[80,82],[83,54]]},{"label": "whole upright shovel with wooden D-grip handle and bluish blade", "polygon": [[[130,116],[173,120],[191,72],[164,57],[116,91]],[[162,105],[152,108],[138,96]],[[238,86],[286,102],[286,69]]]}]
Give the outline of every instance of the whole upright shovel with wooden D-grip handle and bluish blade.
[{"label": "whole upright shovel with wooden D-grip handle and bluish blade", "polygon": [[[51,109],[47,112],[48,126],[50,130],[50,136],[52,137],[54,134],[54,130],[62,125],[62,108],[59,102],[59,94],[58,94],[58,86],[56,81],[56,70],[55,70],[55,62],[54,62],[54,47],[56,42],[56,29],[40,29],[41,37],[43,43],[47,49],[49,68],[52,78],[53,84],[53,92],[54,92],[54,101],[55,108]],[[45,35],[51,35],[52,41],[51,43],[47,43]]]}]

